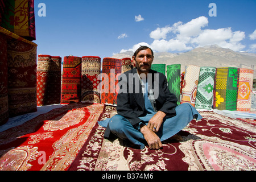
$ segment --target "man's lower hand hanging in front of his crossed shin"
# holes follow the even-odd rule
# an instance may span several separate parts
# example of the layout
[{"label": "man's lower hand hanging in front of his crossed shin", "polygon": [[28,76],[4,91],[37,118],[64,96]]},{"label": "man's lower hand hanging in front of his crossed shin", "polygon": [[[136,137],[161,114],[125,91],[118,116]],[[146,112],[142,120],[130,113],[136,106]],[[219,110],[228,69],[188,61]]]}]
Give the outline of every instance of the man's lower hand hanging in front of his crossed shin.
[{"label": "man's lower hand hanging in front of his crossed shin", "polygon": [[155,134],[154,131],[150,130],[148,126],[142,126],[141,133],[144,135],[144,138],[146,139],[150,149],[162,148],[162,142],[160,141],[160,138]]}]

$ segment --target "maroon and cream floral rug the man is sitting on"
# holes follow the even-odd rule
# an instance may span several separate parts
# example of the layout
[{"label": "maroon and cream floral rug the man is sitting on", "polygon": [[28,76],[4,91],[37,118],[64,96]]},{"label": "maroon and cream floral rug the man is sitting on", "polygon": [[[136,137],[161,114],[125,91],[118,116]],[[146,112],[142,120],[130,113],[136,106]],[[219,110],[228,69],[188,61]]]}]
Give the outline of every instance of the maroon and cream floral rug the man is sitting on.
[{"label": "maroon and cream floral rug the man is sitting on", "polygon": [[[106,106],[99,120],[115,114]],[[256,126],[213,111],[200,111],[201,121],[191,121],[180,131],[181,142],[166,140],[161,150],[127,147],[127,143],[104,139],[105,128],[96,123],[71,171],[143,170],[256,170]]]}]

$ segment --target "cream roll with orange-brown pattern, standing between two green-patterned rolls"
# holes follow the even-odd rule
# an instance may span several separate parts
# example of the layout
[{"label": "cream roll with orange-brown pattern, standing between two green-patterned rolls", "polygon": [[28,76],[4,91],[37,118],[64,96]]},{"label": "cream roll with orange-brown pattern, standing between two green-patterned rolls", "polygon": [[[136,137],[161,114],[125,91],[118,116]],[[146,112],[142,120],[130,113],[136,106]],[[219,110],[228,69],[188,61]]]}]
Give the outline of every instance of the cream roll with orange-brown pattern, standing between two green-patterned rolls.
[{"label": "cream roll with orange-brown pattern, standing between two green-patterned rolls", "polygon": [[196,65],[188,65],[185,69],[184,81],[181,94],[181,104],[187,102],[195,107],[196,92],[199,80],[200,67]]}]

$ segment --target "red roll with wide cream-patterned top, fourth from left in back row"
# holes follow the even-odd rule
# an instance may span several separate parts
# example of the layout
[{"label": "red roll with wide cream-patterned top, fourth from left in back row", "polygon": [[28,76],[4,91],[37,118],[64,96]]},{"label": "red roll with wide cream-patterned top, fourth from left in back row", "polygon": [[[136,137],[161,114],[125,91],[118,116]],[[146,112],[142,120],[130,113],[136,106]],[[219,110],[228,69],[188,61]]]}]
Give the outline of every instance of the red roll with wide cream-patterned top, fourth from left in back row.
[{"label": "red roll with wide cream-patterned top, fourth from left in back row", "polygon": [[98,76],[101,73],[101,58],[98,56],[82,57],[82,97],[81,101],[101,103],[98,91]]}]

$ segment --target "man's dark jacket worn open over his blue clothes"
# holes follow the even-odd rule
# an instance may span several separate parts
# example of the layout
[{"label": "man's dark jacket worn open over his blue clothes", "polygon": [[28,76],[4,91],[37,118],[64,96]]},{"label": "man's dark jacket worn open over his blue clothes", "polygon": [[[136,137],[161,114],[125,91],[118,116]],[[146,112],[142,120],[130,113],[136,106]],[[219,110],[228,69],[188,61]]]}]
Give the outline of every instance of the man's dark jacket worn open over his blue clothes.
[{"label": "man's dark jacket worn open over his blue clothes", "polygon": [[[126,80],[122,80],[124,75],[119,77],[120,89],[123,89],[123,85],[126,85],[126,93],[118,93],[117,95],[117,113],[125,117],[134,128],[138,127],[140,122],[143,122],[138,117],[146,115],[144,106],[144,97],[141,90],[141,83],[139,82],[139,93],[135,92],[135,88],[138,87],[136,81],[129,79],[129,73],[138,74],[137,68],[133,68],[130,71],[123,73],[126,76]],[[152,89],[154,90],[155,77],[154,74],[159,74],[159,94],[158,98],[154,101],[153,105],[155,111],[163,111],[167,114],[167,117],[174,117],[176,115],[175,107],[177,106],[177,98],[175,94],[170,93],[167,86],[166,76],[163,73],[153,71],[150,69],[148,73],[152,74]],[[156,80],[157,81],[157,80]],[[137,82],[138,83],[138,82]],[[129,85],[133,84],[133,92],[129,93]],[[138,88],[137,88],[138,89]],[[105,131],[105,137],[110,136],[109,125]]]}]

